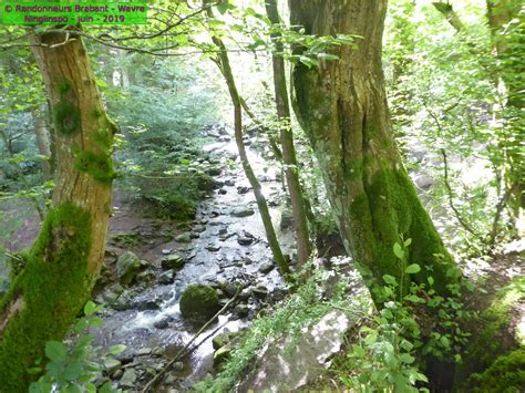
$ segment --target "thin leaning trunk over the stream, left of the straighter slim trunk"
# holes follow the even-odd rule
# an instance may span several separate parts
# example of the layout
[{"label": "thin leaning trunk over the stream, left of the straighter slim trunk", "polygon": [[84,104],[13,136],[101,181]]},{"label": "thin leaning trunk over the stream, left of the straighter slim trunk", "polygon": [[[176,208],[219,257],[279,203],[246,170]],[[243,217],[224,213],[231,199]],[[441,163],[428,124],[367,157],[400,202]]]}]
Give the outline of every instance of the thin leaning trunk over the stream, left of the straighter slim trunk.
[{"label": "thin leaning trunk over the stream, left of the straighter slim trunk", "polygon": [[[206,1],[205,1],[206,3]],[[207,14],[209,18],[214,18],[213,11],[210,8],[207,9]],[[237,149],[239,152],[240,162],[243,164],[244,172],[246,177],[254,189],[255,198],[257,200],[257,207],[259,208],[260,218],[262,219],[262,224],[265,226],[266,237],[268,239],[268,244],[270,246],[271,252],[274,255],[274,259],[279,267],[279,270],[285,279],[287,279],[288,273],[290,272],[288,263],[286,262],[285,256],[279,246],[279,241],[276,236],[276,231],[274,228],[274,224],[271,223],[271,216],[268,210],[268,204],[266,203],[266,198],[262,195],[262,187],[260,186],[257,176],[251,168],[251,165],[248,161],[248,155],[246,153],[246,147],[243,141],[243,105],[239,93],[237,91],[237,86],[235,84],[234,73],[231,71],[231,66],[229,64],[229,56],[224,44],[223,40],[218,37],[213,35],[212,40],[215,45],[219,49],[219,53],[217,55],[217,64],[223,76],[226,80],[226,84],[228,85],[229,95],[231,97],[231,103],[234,104],[234,114],[235,114],[235,142],[237,144]]]}]

